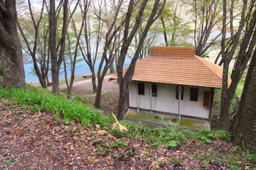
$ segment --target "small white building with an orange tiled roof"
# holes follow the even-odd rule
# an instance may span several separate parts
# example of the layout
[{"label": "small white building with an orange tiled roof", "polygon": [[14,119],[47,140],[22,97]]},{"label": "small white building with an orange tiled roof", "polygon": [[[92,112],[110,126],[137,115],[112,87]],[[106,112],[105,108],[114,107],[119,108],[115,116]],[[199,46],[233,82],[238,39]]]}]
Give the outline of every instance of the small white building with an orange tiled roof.
[{"label": "small white building with an orange tiled roof", "polygon": [[[209,128],[222,73],[223,67],[194,55],[193,47],[152,46],[150,55],[136,62],[125,120],[150,127],[179,122],[190,129]],[[109,81],[114,79],[117,74]]]}]

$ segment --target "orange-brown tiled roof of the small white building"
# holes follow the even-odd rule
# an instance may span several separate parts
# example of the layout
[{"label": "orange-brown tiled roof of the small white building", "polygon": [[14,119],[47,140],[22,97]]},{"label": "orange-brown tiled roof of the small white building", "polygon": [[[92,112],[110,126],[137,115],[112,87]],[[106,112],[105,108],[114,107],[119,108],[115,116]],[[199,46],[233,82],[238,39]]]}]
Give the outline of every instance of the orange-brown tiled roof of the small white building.
[{"label": "orange-brown tiled roof of the small white building", "polygon": [[[193,47],[152,46],[150,55],[136,62],[132,80],[222,88],[222,71],[223,67],[194,55]],[[117,74],[109,81],[114,79]],[[230,83],[228,76],[228,87]]]}]

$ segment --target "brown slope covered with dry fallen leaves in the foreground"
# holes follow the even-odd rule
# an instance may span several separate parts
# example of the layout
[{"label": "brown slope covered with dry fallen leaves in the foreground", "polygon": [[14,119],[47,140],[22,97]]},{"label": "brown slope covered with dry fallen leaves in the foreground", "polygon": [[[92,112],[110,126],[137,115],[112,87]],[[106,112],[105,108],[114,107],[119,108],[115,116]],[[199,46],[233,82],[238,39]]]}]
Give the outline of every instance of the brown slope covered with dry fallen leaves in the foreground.
[{"label": "brown slope covered with dry fallen leaves in the foreground", "polygon": [[[46,110],[31,111],[0,100],[0,169],[255,169],[230,141],[189,138],[177,147],[102,133],[77,121],[56,122]],[[63,117],[60,119],[63,119]],[[63,121],[63,120],[62,120]],[[107,131],[107,130],[106,130]],[[107,147],[108,146],[108,147]]]}]

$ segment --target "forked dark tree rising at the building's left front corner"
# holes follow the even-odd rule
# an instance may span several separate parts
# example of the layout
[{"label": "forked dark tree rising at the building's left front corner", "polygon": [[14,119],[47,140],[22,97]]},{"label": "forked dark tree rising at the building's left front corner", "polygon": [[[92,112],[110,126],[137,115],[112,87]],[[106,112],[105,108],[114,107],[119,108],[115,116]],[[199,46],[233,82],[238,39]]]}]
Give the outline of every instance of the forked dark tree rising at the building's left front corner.
[{"label": "forked dark tree rising at the building's left front corner", "polygon": [[148,30],[150,29],[151,25],[157,20],[157,18],[159,18],[161,12],[163,11],[166,0],[164,0],[162,3],[160,3],[160,0],[155,1],[152,11],[150,13],[150,17],[147,20],[147,24],[145,26],[145,29],[138,43],[138,48],[136,49],[136,52],[132,57],[132,61],[129,68],[123,75],[125,56],[127,54],[127,50],[129,46],[131,45],[132,39],[134,38],[134,35],[138,31],[140,23],[143,19],[143,12],[145,11],[147,2],[148,2],[147,0],[144,0],[140,4],[140,10],[138,12],[138,15],[136,16],[136,22],[133,25],[131,31],[129,31],[129,27],[131,25],[131,15],[132,15],[132,10],[134,8],[134,4],[136,4],[137,1],[131,0],[127,9],[127,14],[125,18],[124,39],[123,39],[122,49],[120,52],[120,59],[118,60],[118,66],[117,66],[119,92],[120,92],[119,103],[118,103],[118,115],[117,115],[117,118],[119,120],[124,120],[128,89],[132,80],[132,76],[134,74],[136,61],[138,60],[141,48],[143,46],[143,42],[147,36]]}]

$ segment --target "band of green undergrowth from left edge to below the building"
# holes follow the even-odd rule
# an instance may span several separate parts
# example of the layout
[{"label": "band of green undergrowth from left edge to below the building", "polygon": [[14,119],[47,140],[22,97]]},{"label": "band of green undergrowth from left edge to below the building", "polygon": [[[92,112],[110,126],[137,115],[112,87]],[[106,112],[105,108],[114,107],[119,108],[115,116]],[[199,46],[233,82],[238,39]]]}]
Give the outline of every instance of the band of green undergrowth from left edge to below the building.
[{"label": "band of green undergrowth from left edge to below the building", "polygon": [[[35,89],[33,89],[35,90]],[[102,129],[111,133],[118,138],[131,138],[131,139],[141,139],[148,143],[150,148],[158,148],[159,146],[164,146],[165,148],[179,148],[180,145],[187,143],[188,139],[190,141],[197,140],[198,145],[204,143],[212,143],[212,140],[230,139],[230,134],[225,131],[214,131],[212,129],[200,129],[200,131],[190,131],[189,129],[184,129],[179,124],[173,124],[172,126],[167,126],[166,128],[150,128],[140,122],[129,122],[120,121],[120,124],[124,125],[128,131],[121,132],[120,129],[112,129],[111,125],[115,122],[112,117],[108,115],[102,115],[100,110],[94,110],[92,106],[84,105],[76,99],[67,100],[63,97],[53,96],[51,93],[42,94],[44,90],[40,92],[35,92],[28,89],[4,89],[0,85],[0,97],[2,99],[12,99],[13,104],[19,105],[29,105],[32,111],[51,111],[56,115],[56,122],[61,122],[62,124],[69,124],[70,120],[78,120],[82,125],[99,124]],[[28,107],[29,108],[29,107]],[[63,118],[60,118],[63,115]],[[125,145],[124,143],[118,143],[116,141],[116,146]],[[100,148],[102,153],[108,153],[109,148]],[[113,147],[110,146],[109,147]],[[256,164],[255,155],[251,155],[246,150],[245,159],[252,164]],[[132,151],[129,151],[132,154]],[[227,162],[230,162],[227,160]]]}]

